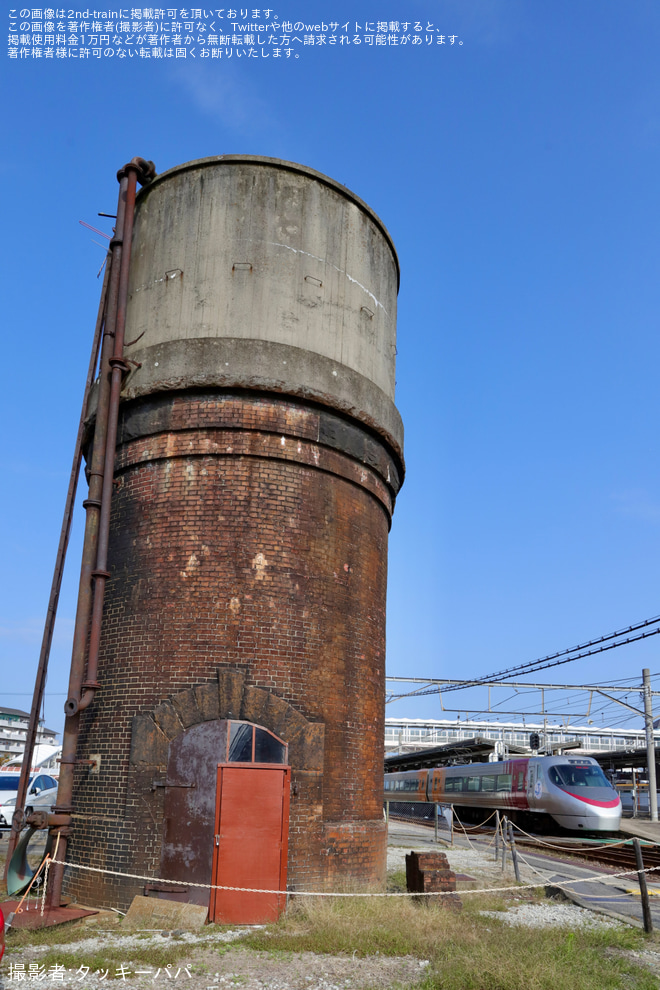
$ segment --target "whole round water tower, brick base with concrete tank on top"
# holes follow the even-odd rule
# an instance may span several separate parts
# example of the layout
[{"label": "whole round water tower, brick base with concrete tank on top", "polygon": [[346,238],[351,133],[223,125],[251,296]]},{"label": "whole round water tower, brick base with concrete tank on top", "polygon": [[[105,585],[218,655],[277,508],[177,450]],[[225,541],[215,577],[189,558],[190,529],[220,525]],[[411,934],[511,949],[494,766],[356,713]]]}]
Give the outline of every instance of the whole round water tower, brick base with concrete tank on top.
[{"label": "whole round water tower, brick base with concrete tank on top", "polygon": [[[208,902],[214,768],[240,722],[288,747],[289,889],[383,880],[398,277],[373,211],[300,165],[206,158],[139,193],[72,861]],[[67,878],[123,909],[144,887]]]}]

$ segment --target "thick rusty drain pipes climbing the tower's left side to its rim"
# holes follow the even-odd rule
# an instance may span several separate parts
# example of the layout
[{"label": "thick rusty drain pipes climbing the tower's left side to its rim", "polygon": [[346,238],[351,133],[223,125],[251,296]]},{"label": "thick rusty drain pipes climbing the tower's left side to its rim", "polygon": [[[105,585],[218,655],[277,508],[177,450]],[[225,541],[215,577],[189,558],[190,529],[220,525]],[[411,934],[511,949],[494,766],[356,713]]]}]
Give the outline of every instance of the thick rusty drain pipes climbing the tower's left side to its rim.
[{"label": "thick rusty drain pipes climbing the tower's left side to its rim", "polygon": [[[106,318],[103,346],[101,351],[101,371],[99,377],[99,394],[94,427],[94,441],[90,466],[89,497],[84,502],[87,511],[85,521],[85,538],[83,543],[80,584],[78,592],[78,607],[73,636],[71,655],[71,671],[69,676],[69,696],[64,705],[67,716],[62,739],[62,758],[60,760],[60,779],[57,790],[57,805],[53,813],[59,819],[53,831],[59,833],[59,859],[66,858],[67,839],[71,834],[71,813],[73,811],[73,778],[78,749],[78,733],[80,710],[91,702],[98,684],[96,683],[96,657],[98,655],[98,639],[100,637],[100,617],[103,612],[103,592],[107,571],[107,533],[100,539],[102,520],[107,517],[109,523],[110,498],[112,495],[112,478],[114,466],[114,448],[117,437],[117,413],[119,409],[119,392],[121,391],[122,370],[125,367],[123,354],[124,326],[126,317],[126,302],[128,297],[128,271],[130,263],[130,248],[133,231],[133,212],[135,207],[135,189],[139,179],[143,185],[150,182],[156,174],[153,162],[143,158],[134,158],[117,173],[119,180],[119,197],[117,202],[117,226],[115,236],[110,242],[112,252],[112,270],[108,293],[108,312]],[[123,300],[123,301],[122,301]],[[120,328],[120,334],[117,329]],[[119,336],[119,341],[118,341]],[[118,344],[120,351],[118,354]],[[112,370],[111,370],[112,369]],[[113,400],[113,394],[116,398]],[[111,415],[114,410],[115,421],[111,425]],[[112,450],[110,452],[110,441]],[[109,468],[108,468],[109,465]],[[106,484],[106,470],[109,478]],[[99,563],[101,549],[103,567]],[[94,587],[92,588],[92,579]],[[100,585],[100,586],[99,586]],[[94,608],[94,603],[100,600],[100,610]],[[90,630],[90,616],[96,616],[98,630],[94,637]],[[96,643],[96,654],[87,665],[87,678],[83,691],[83,676],[85,658],[87,655],[88,638],[90,645]],[[66,821],[66,824],[64,824]],[[58,907],[62,893],[64,867],[54,865],[51,872],[51,882],[48,890],[48,904]]]}]

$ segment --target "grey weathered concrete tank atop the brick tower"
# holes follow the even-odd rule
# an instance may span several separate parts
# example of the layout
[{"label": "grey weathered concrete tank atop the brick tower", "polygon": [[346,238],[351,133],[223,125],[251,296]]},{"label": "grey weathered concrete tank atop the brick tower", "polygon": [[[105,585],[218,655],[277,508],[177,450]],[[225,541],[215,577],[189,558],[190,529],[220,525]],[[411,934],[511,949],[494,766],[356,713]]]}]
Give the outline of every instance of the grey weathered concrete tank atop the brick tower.
[{"label": "grey weathered concrete tank atop the brick tower", "polygon": [[327,176],[240,155],[170,169],[137,200],[123,394],[301,395],[400,452],[398,277],[382,222]]}]

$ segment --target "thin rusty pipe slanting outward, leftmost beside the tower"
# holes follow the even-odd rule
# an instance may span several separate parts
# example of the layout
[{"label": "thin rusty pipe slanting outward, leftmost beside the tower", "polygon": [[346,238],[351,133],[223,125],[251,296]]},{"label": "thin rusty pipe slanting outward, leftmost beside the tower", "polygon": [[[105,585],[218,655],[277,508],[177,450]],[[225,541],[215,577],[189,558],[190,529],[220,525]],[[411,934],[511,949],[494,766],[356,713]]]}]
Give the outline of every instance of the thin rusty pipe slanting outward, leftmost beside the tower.
[{"label": "thin rusty pipe slanting outward, leftmost beside the tower", "polygon": [[18,843],[18,837],[20,835],[20,831],[22,828],[23,813],[25,811],[25,798],[27,796],[28,783],[30,780],[30,771],[32,768],[32,756],[34,754],[34,746],[35,746],[37,731],[39,727],[39,710],[41,708],[41,702],[43,700],[44,690],[46,686],[46,675],[48,673],[50,648],[53,642],[53,630],[55,628],[55,619],[57,617],[57,606],[60,598],[60,589],[62,587],[62,575],[64,573],[66,552],[69,546],[69,536],[71,534],[71,522],[73,519],[74,500],[76,497],[76,490],[78,488],[78,477],[80,475],[80,464],[82,461],[82,442],[85,431],[85,420],[87,418],[87,405],[89,402],[89,393],[92,387],[92,382],[94,381],[94,372],[96,371],[96,367],[98,364],[99,349],[101,344],[101,331],[103,329],[103,324],[106,316],[107,301],[108,301],[108,284],[110,281],[110,263],[111,263],[111,259],[110,256],[108,256],[107,263],[105,266],[105,274],[103,276],[103,286],[101,288],[101,299],[99,301],[99,309],[96,316],[96,326],[94,328],[92,351],[89,359],[89,365],[87,368],[87,378],[85,379],[85,390],[83,392],[83,401],[80,410],[80,419],[78,421],[78,433],[76,434],[76,443],[73,452],[73,462],[71,465],[71,474],[69,476],[69,487],[67,489],[66,500],[64,503],[64,516],[62,519],[60,540],[57,547],[57,556],[55,558],[55,568],[53,571],[53,580],[50,588],[48,610],[46,612],[46,620],[44,622],[44,632],[41,640],[41,652],[39,654],[39,664],[37,666],[37,675],[34,684],[34,694],[32,696],[32,708],[30,710],[30,721],[28,722],[27,736],[25,740],[25,752],[23,754],[21,775],[18,779],[16,810],[14,813],[15,818],[12,821],[12,829],[9,834],[9,840],[7,843],[7,858],[5,861],[5,872],[4,872],[5,880],[7,879],[7,870],[9,869],[9,862],[14,853],[14,849],[16,848],[16,845]]}]

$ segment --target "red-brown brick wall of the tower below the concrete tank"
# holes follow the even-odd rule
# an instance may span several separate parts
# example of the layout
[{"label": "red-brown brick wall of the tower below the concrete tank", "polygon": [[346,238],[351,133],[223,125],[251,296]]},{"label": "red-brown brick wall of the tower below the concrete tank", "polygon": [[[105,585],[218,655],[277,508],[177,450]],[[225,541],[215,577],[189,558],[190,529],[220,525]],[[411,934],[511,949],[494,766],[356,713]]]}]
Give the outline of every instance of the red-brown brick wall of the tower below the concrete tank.
[{"label": "red-brown brick wall of the tower below the concrete tank", "polygon": [[[327,409],[219,391],[127,404],[115,464],[102,688],[79,745],[101,765],[76,772],[69,858],[157,874],[162,791],[151,792],[151,767],[131,767],[132,720],[232,669],[325,727],[322,769],[293,765],[290,884],[380,883],[400,465],[377,434]],[[117,907],[142,886],[67,878],[69,896]]]}]

